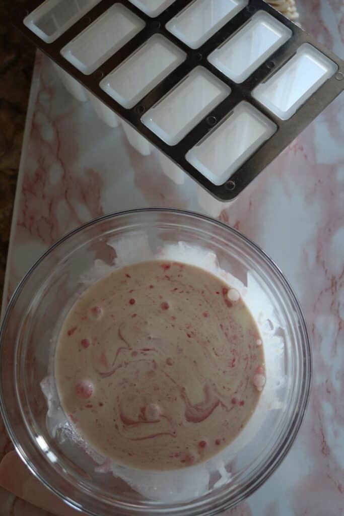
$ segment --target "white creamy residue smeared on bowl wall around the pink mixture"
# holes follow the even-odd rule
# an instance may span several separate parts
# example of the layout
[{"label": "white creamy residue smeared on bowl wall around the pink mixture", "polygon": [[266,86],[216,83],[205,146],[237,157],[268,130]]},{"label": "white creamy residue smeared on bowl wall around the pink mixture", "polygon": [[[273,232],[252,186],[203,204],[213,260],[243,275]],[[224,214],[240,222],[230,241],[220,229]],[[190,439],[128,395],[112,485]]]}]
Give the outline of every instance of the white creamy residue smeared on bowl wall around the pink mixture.
[{"label": "white creamy residue smeared on bowl wall around the pink mixture", "polygon": [[[83,282],[80,292],[111,271],[130,263],[154,259],[181,261],[202,267],[235,288],[248,305],[263,336],[267,382],[260,396],[257,409],[238,437],[219,454],[206,462],[186,469],[154,472],[135,470],[101,456],[89,447],[88,443],[76,433],[73,426],[67,421],[60,406],[53,374],[54,352],[58,338],[58,332],[56,331],[55,343],[52,342],[51,345],[50,376],[41,383],[48,404],[46,421],[50,435],[56,437],[56,432],[59,430],[58,439],[61,448],[66,447],[70,451],[72,449],[74,454],[77,453],[77,449],[86,451],[92,460],[98,464],[94,467],[96,474],[111,472],[114,476],[127,482],[142,496],[158,502],[186,502],[206,494],[212,487],[220,487],[229,482],[232,473],[227,471],[228,461],[240,457],[238,452],[245,445],[253,442],[257,430],[265,423],[267,411],[284,410],[284,402],[280,399],[279,390],[276,389],[276,379],[280,386],[283,386],[286,382],[284,376],[284,338],[280,336],[279,332],[285,333],[287,330],[281,326],[281,322],[275,316],[269,295],[265,293],[256,273],[254,271],[247,273],[247,284],[245,285],[231,272],[221,269],[215,252],[186,244],[183,241],[175,244],[165,244],[157,251],[153,251],[148,238],[145,236],[136,236],[134,239],[123,237],[120,240],[113,241],[113,244],[111,241],[108,241],[107,244],[113,245],[116,249],[115,265],[109,266],[101,260],[96,260],[88,273],[80,278],[80,282]],[[62,321],[59,321],[59,324],[61,325]],[[291,380],[289,379],[289,381]],[[71,448],[73,444],[74,446]],[[215,485],[213,485],[214,482],[210,483],[214,475],[217,479]]]}]

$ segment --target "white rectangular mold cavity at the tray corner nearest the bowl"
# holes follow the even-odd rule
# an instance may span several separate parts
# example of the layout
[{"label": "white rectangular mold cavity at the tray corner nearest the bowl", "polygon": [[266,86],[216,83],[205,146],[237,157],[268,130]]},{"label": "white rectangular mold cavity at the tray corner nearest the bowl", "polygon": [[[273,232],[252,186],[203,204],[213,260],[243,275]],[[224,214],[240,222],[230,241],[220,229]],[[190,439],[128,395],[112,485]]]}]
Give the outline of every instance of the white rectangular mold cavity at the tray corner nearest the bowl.
[{"label": "white rectangular mold cavity at the tray corner nearest the bowl", "polygon": [[185,157],[211,183],[222,185],[276,130],[276,124],[242,101]]}]

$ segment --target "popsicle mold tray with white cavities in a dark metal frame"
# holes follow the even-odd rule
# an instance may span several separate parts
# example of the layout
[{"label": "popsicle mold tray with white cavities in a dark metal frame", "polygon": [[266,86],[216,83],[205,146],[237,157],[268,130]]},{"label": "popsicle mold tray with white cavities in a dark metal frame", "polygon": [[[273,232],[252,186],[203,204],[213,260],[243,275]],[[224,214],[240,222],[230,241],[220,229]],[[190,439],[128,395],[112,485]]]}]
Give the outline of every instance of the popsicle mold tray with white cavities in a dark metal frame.
[{"label": "popsicle mold tray with white cavities in a dark metal frame", "polygon": [[262,0],[33,0],[13,21],[223,201],[344,89],[343,61]]}]

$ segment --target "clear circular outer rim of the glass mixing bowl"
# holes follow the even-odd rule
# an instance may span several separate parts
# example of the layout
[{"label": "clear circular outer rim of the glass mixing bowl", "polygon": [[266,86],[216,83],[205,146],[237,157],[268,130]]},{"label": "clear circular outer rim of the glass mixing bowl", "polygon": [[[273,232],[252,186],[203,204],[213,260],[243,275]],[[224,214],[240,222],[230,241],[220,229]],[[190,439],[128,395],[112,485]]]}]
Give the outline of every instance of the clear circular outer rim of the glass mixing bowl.
[{"label": "clear circular outer rim of the glass mixing bowl", "polygon": [[[206,215],[202,215],[199,213],[186,211],[183,209],[175,209],[175,208],[136,208],[136,209],[128,209],[121,212],[114,212],[108,215],[104,215],[101,217],[97,217],[95,219],[90,220],[89,222],[86,222],[85,224],[80,225],[76,229],[70,231],[66,235],[64,235],[62,238],[57,240],[51,247],[49,247],[38,259],[37,261],[28,269],[28,271],[25,273],[24,277],[20,281],[20,283],[15,288],[15,291],[13,292],[11,299],[8,303],[8,307],[6,309],[1,327],[0,327],[0,364],[2,361],[2,352],[3,352],[3,337],[4,332],[6,329],[6,322],[8,318],[10,317],[10,314],[12,312],[12,309],[15,305],[15,302],[20,295],[22,289],[25,287],[25,284],[27,282],[27,279],[32,274],[32,272],[37,269],[40,265],[40,263],[48,256],[56,247],[60,246],[64,243],[65,240],[73,237],[75,234],[80,233],[84,231],[85,229],[89,228],[92,225],[96,225],[97,223],[104,222],[106,220],[111,220],[113,218],[126,216],[126,215],[135,215],[140,213],[156,213],[157,215],[161,213],[169,213],[171,215],[180,215],[180,216],[187,216],[190,218],[196,218],[203,220],[205,222],[209,222],[211,224],[216,224],[225,231],[228,231],[232,233],[235,237],[239,238],[243,241],[245,245],[247,245],[251,250],[256,252],[263,261],[266,262],[266,264],[273,270],[273,272],[276,274],[276,276],[279,278],[281,283],[283,284],[287,295],[289,296],[292,304],[294,305],[294,309],[297,312],[298,318],[300,320],[301,324],[301,333],[303,335],[303,347],[304,347],[304,357],[303,357],[303,391],[300,395],[300,403],[299,406],[294,410],[292,422],[289,427],[288,433],[284,436],[283,441],[280,443],[279,448],[275,451],[275,453],[271,456],[270,461],[268,465],[265,467],[263,471],[260,471],[257,477],[252,480],[250,483],[247,483],[244,488],[241,488],[238,490],[236,495],[231,497],[231,499],[227,499],[226,497],[221,497],[221,501],[219,500],[217,503],[216,499],[213,499],[212,507],[209,507],[209,504],[207,504],[206,507],[204,507],[204,511],[202,510],[203,504],[199,505],[197,501],[187,502],[187,503],[176,503],[176,504],[155,504],[153,503],[152,506],[147,507],[148,513],[151,514],[175,514],[178,516],[187,516],[188,514],[192,514],[192,516],[196,515],[204,515],[204,516],[213,516],[215,514],[219,514],[222,511],[225,511],[227,509],[230,509],[234,506],[236,506],[238,503],[242,502],[244,499],[246,499],[248,496],[253,494],[263,483],[272,475],[272,473],[277,469],[277,467],[281,464],[281,462],[286,457],[288,451],[291,448],[291,445],[293,444],[294,440],[296,439],[296,436],[298,434],[298,431],[300,429],[300,426],[302,424],[302,421],[304,419],[304,415],[307,409],[308,401],[309,401],[309,394],[310,394],[310,387],[312,384],[312,348],[310,346],[310,339],[309,339],[309,333],[307,330],[307,325],[305,321],[305,317],[303,315],[303,311],[301,309],[301,305],[299,303],[299,300],[296,296],[296,294],[293,292],[293,289],[289,285],[289,282],[285,278],[283,272],[281,269],[275,264],[275,262],[271,259],[271,257],[263,251],[257,244],[255,244],[252,240],[250,240],[248,237],[244,236],[242,233],[237,231],[235,228],[232,228],[231,226],[224,224],[223,222],[213,219],[211,217],[208,217]],[[93,511],[90,511],[87,509],[87,507],[80,507],[76,502],[74,502],[72,499],[68,498],[64,493],[60,492],[58,489],[54,488],[50,483],[48,483],[47,480],[40,474],[37,466],[35,465],[34,461],[32,461],[28,455],[26,454],[26,451],[23,449],[22,444],[18,441],[15,431],[12,427],[11,422],[9,421],[9,418],[7,416],[7,410],[6,410],[6,403],[4,401],[3,396],[3,390],[2,390],[2,382],[0,381],[0,413],[3,418],[3,421],[5,423],[6,430],[14,444],[15,450],[21,457],[21,459],[24,461],[28,469],[31,471],[32,474],[35,475],[36,478],[38,478],[43,485],[48,488],[50,491],[52,491],[54,494],[59,496],[65,503],[67,503],[69,506],[76,510],[83,510],[85,513],[90,514],[91,516],[98,516]],[[26,430],[27,433],[29,433]],[[123,514],[143,514],[142,509],[144,509],[143,506],[136,506],[135,504],[125,504],[123,502],[120,502],[118,506],[113,506],[113,509],[122,510]]]}]

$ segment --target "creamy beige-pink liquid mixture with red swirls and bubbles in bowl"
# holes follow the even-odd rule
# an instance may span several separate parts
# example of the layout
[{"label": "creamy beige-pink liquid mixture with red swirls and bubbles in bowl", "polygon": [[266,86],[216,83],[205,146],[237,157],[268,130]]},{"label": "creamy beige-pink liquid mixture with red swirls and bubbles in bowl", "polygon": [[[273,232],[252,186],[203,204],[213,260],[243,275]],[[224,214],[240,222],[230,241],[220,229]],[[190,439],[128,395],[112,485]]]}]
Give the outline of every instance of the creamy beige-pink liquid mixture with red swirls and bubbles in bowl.
[{"label": "creamy beige-pink liquid mixture with red swirls and bubbles in bowl", "polygon": [[265,383],[261,337],[239,293],[178,262],[135,264],[90,287],[64,321],[55,364],[78,433],[147,470],[215,455]]}]

